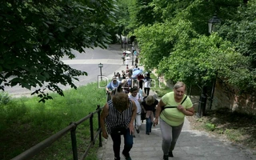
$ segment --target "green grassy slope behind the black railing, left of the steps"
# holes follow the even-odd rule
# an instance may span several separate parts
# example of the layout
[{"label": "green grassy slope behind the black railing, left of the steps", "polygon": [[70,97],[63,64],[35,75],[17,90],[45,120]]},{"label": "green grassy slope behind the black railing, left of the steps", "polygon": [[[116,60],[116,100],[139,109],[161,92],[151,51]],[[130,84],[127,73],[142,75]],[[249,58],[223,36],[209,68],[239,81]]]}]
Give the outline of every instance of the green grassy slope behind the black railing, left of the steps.
[{"label": "green grassy slope behind the black railing, left of the steps", "polygon": [[[105,91],[99,89],[97,83],[79,87],[78,90],[66,90],[65,97],[58,94],[52,96],[54,100],[46,103],[38,103],[36,97],[14,98],[7,105],[0,106],[0,159],[14,158],[106,102]],[[97,124],[95,122],[94,129],[97,129]],[[82,154],[90,142],[89,121],[78,126],[76,132],[78,153]],[[96,151],[96,148],[90,150],[86,159],[97,159]],[[70,134],[34,159],[72,159]]]}]

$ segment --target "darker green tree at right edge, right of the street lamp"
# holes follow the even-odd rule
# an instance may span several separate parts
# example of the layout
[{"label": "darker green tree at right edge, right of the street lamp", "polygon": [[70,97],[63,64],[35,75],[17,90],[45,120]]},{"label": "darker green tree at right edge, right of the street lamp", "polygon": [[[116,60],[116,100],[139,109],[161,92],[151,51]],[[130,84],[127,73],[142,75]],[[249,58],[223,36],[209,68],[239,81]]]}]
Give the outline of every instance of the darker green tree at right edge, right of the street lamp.
[{"label": "darker green tree at right edge, right of the street lamp", "polygon": [[238,14],[227,21],[218,30],[222,38],[233,43],[234,48],[251,59],[250,66],[256,69],[256,1],[250,1],[247,6],[240,6]]}]

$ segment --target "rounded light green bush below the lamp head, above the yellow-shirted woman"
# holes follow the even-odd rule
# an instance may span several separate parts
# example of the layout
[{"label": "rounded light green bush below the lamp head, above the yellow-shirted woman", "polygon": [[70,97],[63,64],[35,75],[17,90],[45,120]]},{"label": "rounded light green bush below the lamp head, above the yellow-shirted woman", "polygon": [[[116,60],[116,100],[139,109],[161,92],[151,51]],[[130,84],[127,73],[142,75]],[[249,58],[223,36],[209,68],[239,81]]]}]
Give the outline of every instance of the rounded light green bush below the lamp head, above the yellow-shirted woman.
[{"label": "rounded light green bush below the lamp head, above the yellow-shirted woman", "polygon": [[[232,43],[223,40],[218,34],[200,36],[184,43],[175,46],[170,57],[160,62],[158,73],[165,74],[166,78],[174,82],[183,81],[200,86],[208,85],[216,75],[243,89],[252,80],[248,70],[250,59],[234,51]],[[234,81],[238,74],[241,74],[239,80],[242,83]]]}]

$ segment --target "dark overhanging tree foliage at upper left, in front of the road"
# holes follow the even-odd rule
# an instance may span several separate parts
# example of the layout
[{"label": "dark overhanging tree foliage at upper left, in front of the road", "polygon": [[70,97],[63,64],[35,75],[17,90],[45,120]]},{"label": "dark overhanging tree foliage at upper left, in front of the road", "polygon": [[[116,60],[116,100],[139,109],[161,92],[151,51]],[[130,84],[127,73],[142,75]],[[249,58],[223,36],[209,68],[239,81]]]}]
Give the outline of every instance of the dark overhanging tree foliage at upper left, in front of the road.
[{"label": "dark overhanging tree foliage at upper left, in front of the road", "polygon": [[114,0],[1,1],[0,89],[40,86],[34,94],[44,102],[51,98],[46,89],[63,95],[58,84],[76,88],[73,81],[86,72],[70,68],[60,58],[74,58],[71,49],[106,47],[113,10]]}]

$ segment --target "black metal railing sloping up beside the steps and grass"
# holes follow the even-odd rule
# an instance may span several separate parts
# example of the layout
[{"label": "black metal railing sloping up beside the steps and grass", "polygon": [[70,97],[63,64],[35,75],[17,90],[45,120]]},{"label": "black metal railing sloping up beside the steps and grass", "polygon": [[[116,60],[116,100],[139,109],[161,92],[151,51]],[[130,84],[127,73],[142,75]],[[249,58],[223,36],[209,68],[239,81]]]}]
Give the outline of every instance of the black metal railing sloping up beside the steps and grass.
[{"label": "black metal railing sloping up beside the steps and grass", "polygon": [[[78,160],[78,149],[77,149],[77,138],[76,138],[76,129],[77,126],[80,125],[82,122],[85,122],[87,119],[90,118],[90,143],[86,148],[86,151],[84,154],[82,154],[82,158],[79,159],[85,159],[86,155],[89,153],[89,150],[91,146],[95,144],[95,140],[98,137],[98,146],[102,146],[102,130],[100,127],[100,113],[101,113],[102,108],[100,106],[97,106],[97,110],[94,111],[93,113],[90,113],[87,115],[85,118],[80,119],[78,122],[70,122],[70,126],[67,126],[63,130],[58,131],[58,133],[50,136],[50,138],[46,138],[44,141],[39,142],[37,145],[32,146],[29,150],[26,150],[22,154],[19,154],[15,158],[12,158],[12,160],[27,160],[33,158],[35,155],[37,155],[40,151],[45,150],[48,146],[53,144],[55,141],[58,139],[62,138],[64,135],[68,134],[70,131],[71,135],[71,142],[72,142],[72,150],[73,150],[73,159]],[[94,114],[98,114],[98,130],[96,135],[94,136]]]}]

